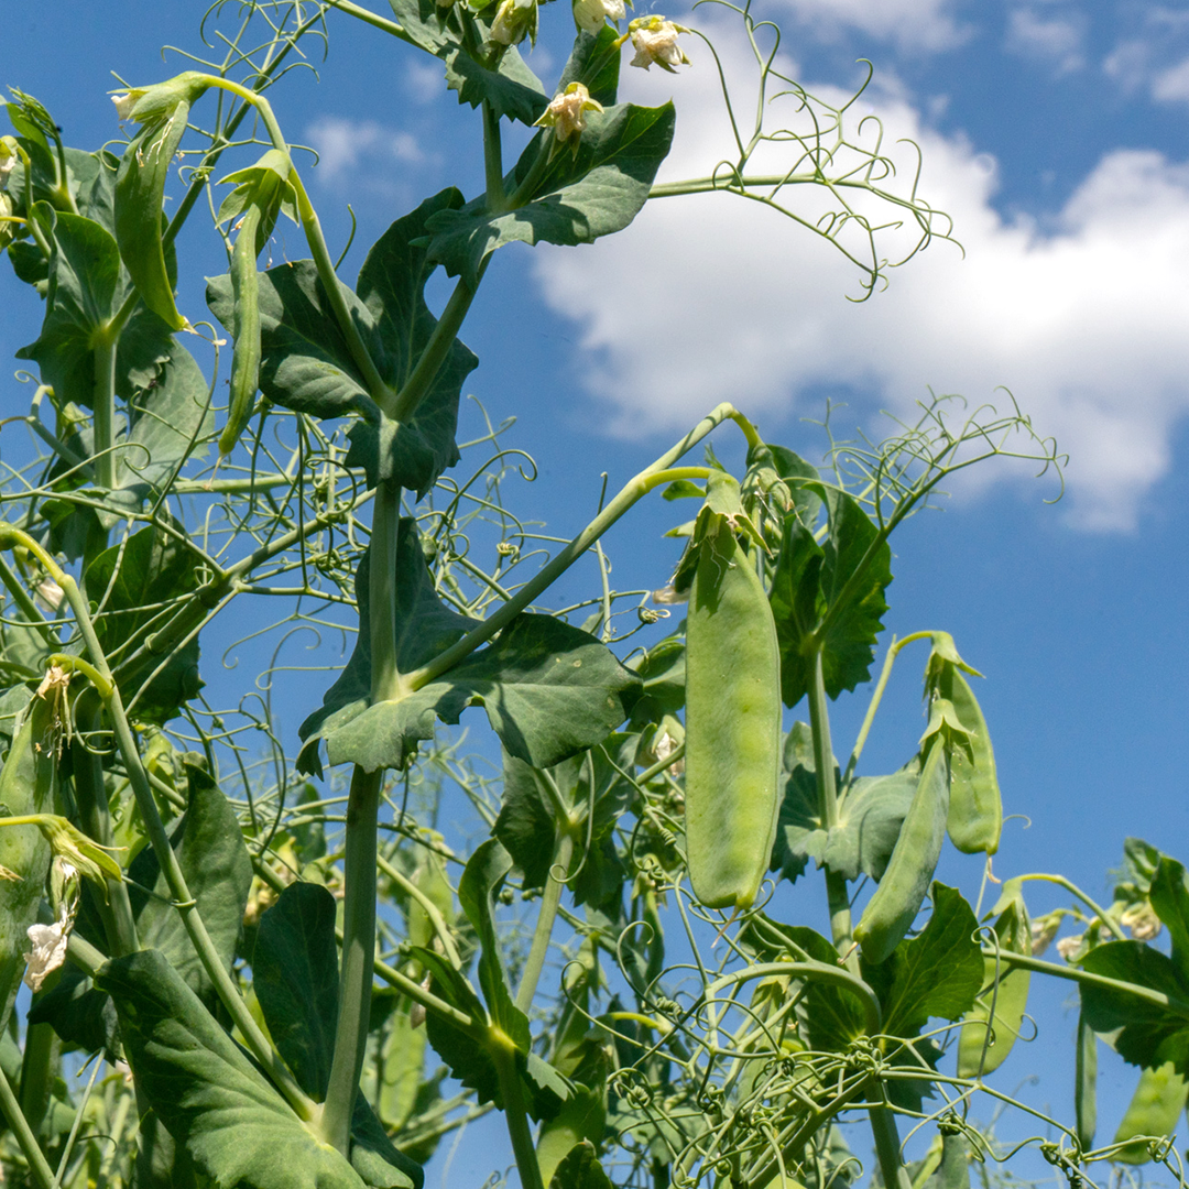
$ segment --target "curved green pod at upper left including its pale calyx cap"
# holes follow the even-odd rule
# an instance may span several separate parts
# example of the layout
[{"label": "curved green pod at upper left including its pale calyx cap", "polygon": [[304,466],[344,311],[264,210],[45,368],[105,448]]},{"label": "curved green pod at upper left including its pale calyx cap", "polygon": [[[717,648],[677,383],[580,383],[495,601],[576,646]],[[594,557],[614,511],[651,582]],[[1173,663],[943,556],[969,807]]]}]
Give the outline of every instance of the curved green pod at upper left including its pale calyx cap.
[{"label": "curved green pod at upper left including its pale calyx cap", "polygon": [[207,86],[202,75],[187,71],[169,82],[115,96],[120,118],[144,125],[124,151],[115,174],[115,241],[140,300],[171,331],[184,331],[190,323],[177,312],[165,266],[162,203],[190,103]]}]

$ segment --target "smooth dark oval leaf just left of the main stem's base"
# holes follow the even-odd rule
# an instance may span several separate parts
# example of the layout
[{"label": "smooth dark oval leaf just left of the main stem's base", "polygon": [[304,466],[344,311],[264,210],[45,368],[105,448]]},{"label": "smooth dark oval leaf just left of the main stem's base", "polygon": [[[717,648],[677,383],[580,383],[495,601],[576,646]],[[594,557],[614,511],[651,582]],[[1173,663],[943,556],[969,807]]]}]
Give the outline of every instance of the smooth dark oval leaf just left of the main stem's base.
[{"label": "smooth dark oval leaf just left of the main stem's base", "polygon": [[317,883],[290,883],[260,917],[252,986],[269,1034],[297,1084],[321,1102],[339,1019],[334,897]]}]

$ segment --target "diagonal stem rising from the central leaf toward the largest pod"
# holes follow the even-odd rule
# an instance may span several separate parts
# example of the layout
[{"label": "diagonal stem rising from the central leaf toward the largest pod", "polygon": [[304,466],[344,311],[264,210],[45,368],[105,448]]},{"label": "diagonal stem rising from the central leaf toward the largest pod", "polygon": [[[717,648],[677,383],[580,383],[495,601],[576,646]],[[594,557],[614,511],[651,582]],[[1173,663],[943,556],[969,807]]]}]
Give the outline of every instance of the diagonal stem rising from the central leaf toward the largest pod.
[{"label": "diagonal stem rising from the central leaf toward the largest pod", "polygon": [[567,545],[535,578],[529,579],[498,611],[489,616],[478,628],[468,631],[457,644],[439,653],[428,665],[407,674],[409,690],[420,690],[463,658],[470,656],[480,644],[485,644],[503,630],[533,599],[547,590],[637,501],[642,499],[658,483],[668,482],[666,472],[684,454],[687,454],[704,438],[724,421],[737,417],[735,408],[723,403],[712,409],[672,449],[666,451],[652,466],[631,479],[619,493]]}]

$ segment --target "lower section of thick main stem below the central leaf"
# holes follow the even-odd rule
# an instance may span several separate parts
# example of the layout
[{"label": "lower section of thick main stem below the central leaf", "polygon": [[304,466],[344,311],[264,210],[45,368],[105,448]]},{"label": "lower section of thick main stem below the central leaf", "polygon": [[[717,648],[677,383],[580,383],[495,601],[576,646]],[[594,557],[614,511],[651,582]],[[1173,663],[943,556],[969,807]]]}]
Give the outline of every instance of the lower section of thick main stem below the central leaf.
[{"label": "lower section of thick main stem below the central leaf", "polygon": [[383,770],[367,773],[357,767],[347,799],[339,1023],[322,1108],[322,1138],[344,1156],[351,1150],[351,1115],[364,1068],[371,1017],[376,963],[376,826],[383,779]]}]

